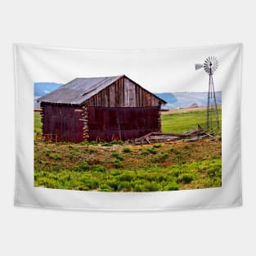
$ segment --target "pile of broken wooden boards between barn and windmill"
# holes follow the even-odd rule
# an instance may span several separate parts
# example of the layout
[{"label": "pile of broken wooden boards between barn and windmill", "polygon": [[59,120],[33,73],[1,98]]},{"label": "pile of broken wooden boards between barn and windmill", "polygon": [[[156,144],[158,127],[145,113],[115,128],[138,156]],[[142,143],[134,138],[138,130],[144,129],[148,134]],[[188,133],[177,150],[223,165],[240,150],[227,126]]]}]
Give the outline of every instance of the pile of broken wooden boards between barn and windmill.
[{"label": "pile of broken wooden boards between barn and windmill", "polygon": [[208,132],[205,132],[203,129],[199,128],[183,133],[150,132],[145,136],[131,139],[129,142],[133,145],[141,145],[164,141],[198,141],[205,137],[214,138],[212,134],[209,134]]}]

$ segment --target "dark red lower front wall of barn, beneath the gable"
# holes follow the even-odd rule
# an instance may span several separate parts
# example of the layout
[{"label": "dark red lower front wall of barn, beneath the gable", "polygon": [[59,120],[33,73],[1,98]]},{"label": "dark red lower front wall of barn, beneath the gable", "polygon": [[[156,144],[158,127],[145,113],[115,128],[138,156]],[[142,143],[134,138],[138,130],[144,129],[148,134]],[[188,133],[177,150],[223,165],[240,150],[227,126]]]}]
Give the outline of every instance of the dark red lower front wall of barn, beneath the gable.
[{"label": "dark red lower front wall of barn, beneath the gable", "polygon": [[88,140],[112,141],[159,132],[158,107],[88,107]]}]

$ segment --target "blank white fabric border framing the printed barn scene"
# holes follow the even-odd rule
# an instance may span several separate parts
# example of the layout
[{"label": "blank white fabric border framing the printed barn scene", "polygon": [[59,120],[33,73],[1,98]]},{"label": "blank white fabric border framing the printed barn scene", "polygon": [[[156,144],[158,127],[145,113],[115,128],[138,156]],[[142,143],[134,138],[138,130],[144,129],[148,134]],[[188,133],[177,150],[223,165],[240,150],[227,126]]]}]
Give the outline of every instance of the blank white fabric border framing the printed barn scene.
[{"label": "blank white fabric border framing the printed barn scene", "polygon": [[[44,60],[40,59],[42,68],[47,69],[46,65],[43,66],[43,61],[50,59],[54,62],[60,52],[65,55],[67,52],[137,52],[138,50],[91,51],[16,44],[14,46],[16,79],[15,205],[52,209],[119,211],[221,208],[241,205],[240,86],[242,45],[238,43],[213,47],[191,47],[189,49],[159,49],[157,51],[191,50],[191,52],[195,52],[200,49],[203,50],[203,53],[226,51],[231,61],[229,74],[226,75],[227,78],[225,79],[228,85],[222,88],[222,187],[185,191],[124,193],[34,187],[34,82],[38,81],[36,76],[38,65],[35,64],[42,57],[42,54],[45,55]],[[64,59],[61,58],[60,64],[63,64]],[[61,67],[58,71],[61,72]],[[52,70],[47,70],[47,72],[50,74]]]}]

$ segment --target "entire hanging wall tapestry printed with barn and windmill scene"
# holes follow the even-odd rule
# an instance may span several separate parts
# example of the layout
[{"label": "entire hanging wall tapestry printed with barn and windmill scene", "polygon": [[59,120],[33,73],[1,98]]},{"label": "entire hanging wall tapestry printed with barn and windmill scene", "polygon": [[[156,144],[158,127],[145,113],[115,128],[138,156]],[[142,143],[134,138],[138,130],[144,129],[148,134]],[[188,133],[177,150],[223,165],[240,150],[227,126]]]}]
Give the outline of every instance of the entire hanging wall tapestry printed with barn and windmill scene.
[{"label": "entire hanging wall tapestry printed with barn and windmill scene", "polygon": [[242,204],[242,45],[14,45],[15,205],[171,210]]}]

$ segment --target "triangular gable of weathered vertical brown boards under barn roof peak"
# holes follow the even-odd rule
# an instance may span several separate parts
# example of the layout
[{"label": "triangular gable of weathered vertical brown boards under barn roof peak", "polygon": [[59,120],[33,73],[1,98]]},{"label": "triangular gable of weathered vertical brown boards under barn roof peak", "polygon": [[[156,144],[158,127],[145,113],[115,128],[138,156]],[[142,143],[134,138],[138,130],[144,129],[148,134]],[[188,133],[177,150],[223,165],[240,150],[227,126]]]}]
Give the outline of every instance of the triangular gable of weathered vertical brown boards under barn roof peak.
[{"label": "triangular gable of weathered vertical brown boards under barn roof peak", "polygon": [[88,99],[85,104],[106,107],[146,107],[159,106],[159,99],[130,79],[123,77]]}]

